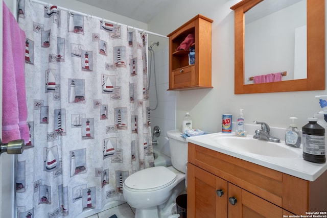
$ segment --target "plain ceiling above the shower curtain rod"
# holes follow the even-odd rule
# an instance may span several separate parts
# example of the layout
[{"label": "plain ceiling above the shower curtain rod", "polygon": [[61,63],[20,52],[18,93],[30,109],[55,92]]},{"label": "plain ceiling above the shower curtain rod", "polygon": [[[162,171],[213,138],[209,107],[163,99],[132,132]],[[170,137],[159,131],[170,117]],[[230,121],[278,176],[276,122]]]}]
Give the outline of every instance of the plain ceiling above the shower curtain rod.
[{"label": "plain ceiling above the shower curtain rod", "polygon": [[173,0],[77,0],[97,8],[149,23]]}]

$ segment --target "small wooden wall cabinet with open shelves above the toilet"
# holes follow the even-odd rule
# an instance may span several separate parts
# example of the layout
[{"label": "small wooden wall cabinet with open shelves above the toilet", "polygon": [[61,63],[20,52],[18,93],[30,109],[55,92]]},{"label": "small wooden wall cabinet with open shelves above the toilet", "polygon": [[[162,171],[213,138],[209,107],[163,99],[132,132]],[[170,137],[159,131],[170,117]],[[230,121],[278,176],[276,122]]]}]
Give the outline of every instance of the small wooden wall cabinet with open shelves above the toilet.
[{"label": "small wooden wall cabinet with open shelves above the toilet", "polygon": [[[169,37],[169,89],[189,90],[213,88],[211,84],[212,19],[197,15],[184,23]],[[178,46],[193,34],[195,63],[189,64],[189,49],[177,50]]]}]

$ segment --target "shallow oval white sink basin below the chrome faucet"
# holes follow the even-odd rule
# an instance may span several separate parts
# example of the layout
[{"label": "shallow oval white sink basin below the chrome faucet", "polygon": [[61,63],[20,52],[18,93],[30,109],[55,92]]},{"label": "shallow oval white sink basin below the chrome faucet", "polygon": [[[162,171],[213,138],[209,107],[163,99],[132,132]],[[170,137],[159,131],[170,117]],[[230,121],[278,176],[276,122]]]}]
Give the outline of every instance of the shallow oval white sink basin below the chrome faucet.
[{"label": "shallow oval white sink basin below the chrome faucet", "polygon": [[235,150],[238,152],[248,152],[252,154],[292,158],[298,157],[299,154],[295,148],[286,146],[285,143],[276,143],[254,139],[253,136],[238,137],[235,135],[216,134],[212,136],[218,144],[226,149]]}]

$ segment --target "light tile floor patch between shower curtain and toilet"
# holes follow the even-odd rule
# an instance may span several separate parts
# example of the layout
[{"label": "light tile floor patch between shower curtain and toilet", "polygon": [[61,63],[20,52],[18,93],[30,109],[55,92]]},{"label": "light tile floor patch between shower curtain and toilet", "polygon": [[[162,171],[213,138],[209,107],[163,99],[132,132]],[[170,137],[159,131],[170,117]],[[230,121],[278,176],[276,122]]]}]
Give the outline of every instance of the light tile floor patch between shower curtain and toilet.
[{"label": "light tile floor patch between shower curtain and toilet", "polygon": [[134,212],[127,203],[105,210],[98,214],[88,216],[87,218],[109,218],[113,214],[116,214],[118,218],[134,218]]}]

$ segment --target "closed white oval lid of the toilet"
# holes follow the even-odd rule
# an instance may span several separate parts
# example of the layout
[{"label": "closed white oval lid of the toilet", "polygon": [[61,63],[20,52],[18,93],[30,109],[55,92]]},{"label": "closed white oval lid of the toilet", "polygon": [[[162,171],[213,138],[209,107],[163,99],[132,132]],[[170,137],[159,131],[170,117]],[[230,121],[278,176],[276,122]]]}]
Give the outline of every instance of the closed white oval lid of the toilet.
[{"label": "closed white oval lid of the toilet", "polygon": [[172,184],[176,174],[164,166],[155,166],[138,171],[125,180],[124,184],[136,190],[157,190]]}]

